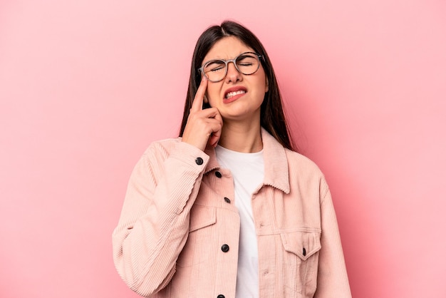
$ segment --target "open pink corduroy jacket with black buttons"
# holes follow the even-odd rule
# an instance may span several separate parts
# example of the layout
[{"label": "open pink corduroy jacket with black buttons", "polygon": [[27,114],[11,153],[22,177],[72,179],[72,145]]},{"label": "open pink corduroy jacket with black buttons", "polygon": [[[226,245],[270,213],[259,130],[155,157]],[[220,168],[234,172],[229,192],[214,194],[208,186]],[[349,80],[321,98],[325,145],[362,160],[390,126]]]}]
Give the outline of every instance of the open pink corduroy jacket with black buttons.
[{"label": "open pink corduroy jacket with black buttons", "polygon": [[[317,166],[262,128],[264,183],[252,195],[260,298],[347,298],[330,191]],[[133,291],[157,298],[234,298],[239,213],[213,148],[152,143],[135,166],[113,257]]]}]

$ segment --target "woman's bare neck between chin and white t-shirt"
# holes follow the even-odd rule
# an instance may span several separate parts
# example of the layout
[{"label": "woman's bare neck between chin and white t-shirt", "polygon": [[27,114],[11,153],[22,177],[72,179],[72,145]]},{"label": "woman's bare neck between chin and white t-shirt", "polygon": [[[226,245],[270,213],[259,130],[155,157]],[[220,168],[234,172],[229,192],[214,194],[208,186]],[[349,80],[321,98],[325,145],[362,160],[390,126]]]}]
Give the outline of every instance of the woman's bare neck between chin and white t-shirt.
[{"label": "woman's bare neck between chin and white t-shirt", "polygon": [[225,122],[223,124],[219,145],[229,150],[242,153],[259,152],[263,149],[260,123],[245,125],[242,123]]}]

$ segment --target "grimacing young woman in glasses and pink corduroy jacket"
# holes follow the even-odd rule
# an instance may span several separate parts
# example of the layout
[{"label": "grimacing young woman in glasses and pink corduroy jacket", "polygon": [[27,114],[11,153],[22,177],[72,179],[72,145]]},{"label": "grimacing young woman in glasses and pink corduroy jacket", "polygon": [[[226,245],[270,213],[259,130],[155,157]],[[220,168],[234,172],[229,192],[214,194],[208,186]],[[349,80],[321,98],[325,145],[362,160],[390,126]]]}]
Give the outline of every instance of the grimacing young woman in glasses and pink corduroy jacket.
[{"label": "grimacing young woman in glasses and pink corduroy jacket", "polygon": [[326,180],[293,151],[271,62],[232,21],[199,37],[180,137],[152,143],[113,232],[144,297],[351,297]]}]

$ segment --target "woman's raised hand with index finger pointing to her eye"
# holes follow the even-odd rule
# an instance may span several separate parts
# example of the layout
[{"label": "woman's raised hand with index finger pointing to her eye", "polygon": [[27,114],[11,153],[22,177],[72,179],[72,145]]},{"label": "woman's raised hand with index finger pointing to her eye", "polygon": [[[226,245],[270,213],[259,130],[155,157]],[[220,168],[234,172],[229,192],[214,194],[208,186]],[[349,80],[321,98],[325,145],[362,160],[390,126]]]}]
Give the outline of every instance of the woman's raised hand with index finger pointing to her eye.
[{"label": "woman's raised hand with index finger pointing to her eye", "polygon": [[217,108],[203,110],[203,98],[206,93],[207,78],[203,76],[195,94],[192,108],[182,134],[182,141],[204,151],[206,145],[217,146],[222,135],[223,119]]}]

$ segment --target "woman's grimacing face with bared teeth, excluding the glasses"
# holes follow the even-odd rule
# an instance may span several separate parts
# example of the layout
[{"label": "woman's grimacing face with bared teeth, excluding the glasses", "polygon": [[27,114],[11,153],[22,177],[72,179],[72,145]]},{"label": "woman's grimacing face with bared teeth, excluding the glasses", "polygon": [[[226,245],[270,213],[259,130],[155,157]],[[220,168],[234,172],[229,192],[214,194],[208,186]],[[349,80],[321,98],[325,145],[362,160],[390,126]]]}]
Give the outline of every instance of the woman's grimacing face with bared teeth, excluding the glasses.
[{"label": "woman's grimacing face with bared teeth, excluding the glasses", "polygon": [[[213,59],[233,59],[241,53],[254,52],[239,38],[228,36],[212,46],[202,64]],[[260,64],[259,70],[251,75],[237,71],[234,63],[228,63],[227,75],[222,81],[208,81],[205,102],[217,108],[225,122],[229,120],[260,120],[260,106],[268,91],[268,82]]]}]

